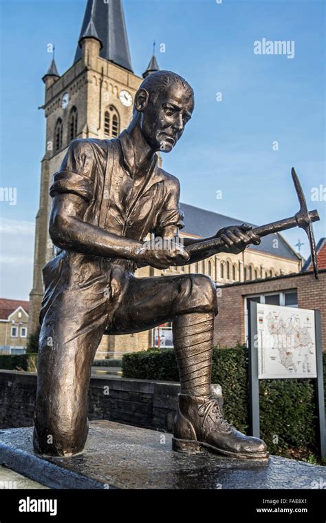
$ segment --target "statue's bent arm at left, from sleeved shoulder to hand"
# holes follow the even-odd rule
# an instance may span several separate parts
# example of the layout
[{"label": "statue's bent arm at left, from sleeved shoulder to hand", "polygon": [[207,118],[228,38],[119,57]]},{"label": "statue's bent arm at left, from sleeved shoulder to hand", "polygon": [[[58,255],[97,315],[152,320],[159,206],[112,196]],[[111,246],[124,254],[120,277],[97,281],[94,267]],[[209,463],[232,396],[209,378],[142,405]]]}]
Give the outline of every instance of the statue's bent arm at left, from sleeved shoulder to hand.
[{"label": "statue's bent arm at left, from sleeved shoulder to hand", "polygon": [[[84,221],[94,198],[96,157],[91,143],[76,140],[69,145],[60,170],[50,187],[52,211],[49,232],[54,245],[82,254],[106,258],[124,258],[136,263],[166,268],[180,256],[178,249],[157,252],[144,243],[112,234]],[[183,254],[188,258],[187,254]]]}]

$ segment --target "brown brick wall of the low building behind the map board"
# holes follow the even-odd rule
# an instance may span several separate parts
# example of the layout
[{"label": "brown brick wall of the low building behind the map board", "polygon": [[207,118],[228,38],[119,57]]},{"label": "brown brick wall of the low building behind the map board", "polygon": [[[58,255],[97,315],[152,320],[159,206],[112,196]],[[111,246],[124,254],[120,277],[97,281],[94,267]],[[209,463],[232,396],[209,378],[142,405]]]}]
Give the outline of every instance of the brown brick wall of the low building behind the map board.
[{"label": "brown brick wall of the low building behind the map board", "polygon": [[277,276],[218,287],[219,314],[215,320],[215,344],[234,347],[245,342],[245,296],[296,290],[300,309],[320,309],[323,350],[326,350],[326,270],[316,280],[312,272]]}]

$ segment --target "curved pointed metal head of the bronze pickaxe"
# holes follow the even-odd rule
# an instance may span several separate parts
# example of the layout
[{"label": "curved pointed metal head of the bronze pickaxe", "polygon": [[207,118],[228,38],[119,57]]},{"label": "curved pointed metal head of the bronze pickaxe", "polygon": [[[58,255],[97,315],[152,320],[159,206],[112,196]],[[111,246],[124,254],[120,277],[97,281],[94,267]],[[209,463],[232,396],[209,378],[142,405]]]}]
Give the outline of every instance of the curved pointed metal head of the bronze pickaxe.
[{"label": "curved pointed metal head of the bronze pickaxe", "polygon": [[294,187],[296,188],[296,194],[298,195],[298,201],[300,203],[300,209],[295,215],[296,222],[298,223],[298,227],[301,227],[301,229],[307,233],[310,245],[310,254],[312,256],[312,266],[314,267],[314,275],[315,278],[318,279],[316,242],[314,237],[314,229],[312,229],[312,221],[319,220],[318,212],[316,210],[311,212],[308,211],[305,195],[303,194],[303,189],[301,187],[301,183],[298,180],[298,175],[296,174],[294,167],[292,167],[291,174]]}]

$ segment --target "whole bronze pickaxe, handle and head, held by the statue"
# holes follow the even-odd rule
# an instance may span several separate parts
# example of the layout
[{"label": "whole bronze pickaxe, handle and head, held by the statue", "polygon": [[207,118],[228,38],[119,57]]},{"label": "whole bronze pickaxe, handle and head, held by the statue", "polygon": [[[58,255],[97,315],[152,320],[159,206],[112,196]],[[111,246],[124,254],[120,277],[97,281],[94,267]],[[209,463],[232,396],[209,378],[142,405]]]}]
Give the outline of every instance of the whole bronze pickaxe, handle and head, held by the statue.
[{"label": "whole bronze pickaxe, handle and head, held by the statue", "polygon": [[[268,234],[274,234],[275,232],[285,231],[286,229],[292,229],[292,227],[301,227],[309,238],[310,252],[312,255],[312,265],[314,267],[315,278],[318,279],[318,265],[317,265],[317,255],[316,255],[316,243],[314,238],[314,231],[312,229],[312,223],[318,221],[320,218],[318,212],[308,211],[307,203],[305,201],[305,195],[303,194],[303,189],[301,183],[298,181],[298,176],[292,167],[292,179],[294,182],[294,187],[296,188],[296,194],[298,195],[298,201],[300,203],[300,209],[298,212],[291,218],[285,218],[284,220],[279,220],[277,222],[268,223],[267,225],[261,225],[261,227],[256,227],[252,229],[252,232],[258,234],[258,236],[268,236]],[[211,248],[212,255],[216,254],[217,249],[222,247],[224,241],[220,238],[214,238],[213,240],[206,240],[201,243],[194,243],[193,245],[188,245],[185,247],[186,251],[193,255],[199,254],[203,250],[209,253]],[[209,254],[208,254],[209,256]]]}]

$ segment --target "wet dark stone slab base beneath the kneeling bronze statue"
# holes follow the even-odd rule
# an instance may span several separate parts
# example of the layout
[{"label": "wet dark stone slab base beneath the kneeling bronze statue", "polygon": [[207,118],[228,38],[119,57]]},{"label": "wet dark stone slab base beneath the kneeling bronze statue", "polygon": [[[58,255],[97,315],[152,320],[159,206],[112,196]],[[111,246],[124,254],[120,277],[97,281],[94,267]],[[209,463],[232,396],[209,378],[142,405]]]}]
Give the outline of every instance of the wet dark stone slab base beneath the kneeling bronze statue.
[{"label": "wet dark stone slab base beneath the kneeling bronze statue", "polygon": [[312,489],[326,469],[271,456],[236,460],[171,448],[171,434],[100,420],[83,452],[70,458],[34,453],[32,427],[0,431],[0,464],[52,489]]}]

